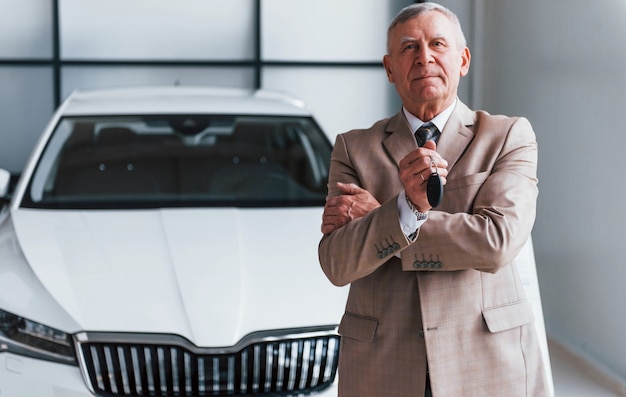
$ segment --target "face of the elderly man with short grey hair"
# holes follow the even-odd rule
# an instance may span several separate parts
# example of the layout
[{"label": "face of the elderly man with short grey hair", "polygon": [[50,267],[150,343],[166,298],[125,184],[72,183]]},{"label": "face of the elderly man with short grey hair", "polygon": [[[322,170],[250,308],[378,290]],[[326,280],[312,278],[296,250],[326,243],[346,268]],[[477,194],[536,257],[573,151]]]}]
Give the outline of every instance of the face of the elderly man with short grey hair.
[{"label": "face of the elderly man with short grey hair", "polygon": [[469,49],[461,48],[458,27],[444,14],[428,11],[398,24],[383,58],[387,78],[405,107],[424,120],[452,104],[459,80],[469,71]]}]

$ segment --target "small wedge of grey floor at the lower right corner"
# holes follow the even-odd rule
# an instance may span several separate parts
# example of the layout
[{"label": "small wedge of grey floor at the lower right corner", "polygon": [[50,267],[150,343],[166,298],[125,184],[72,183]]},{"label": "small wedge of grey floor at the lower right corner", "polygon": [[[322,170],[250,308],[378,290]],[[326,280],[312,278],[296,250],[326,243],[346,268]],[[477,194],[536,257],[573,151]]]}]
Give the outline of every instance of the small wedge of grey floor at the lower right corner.
[{"label": "small wedge of grey floor at the lower right corner", "polygon": [[[549,343],[555,397],[624,397],[597,379],[562,347]],[[604,384],[603,384],[604,383]]]}]

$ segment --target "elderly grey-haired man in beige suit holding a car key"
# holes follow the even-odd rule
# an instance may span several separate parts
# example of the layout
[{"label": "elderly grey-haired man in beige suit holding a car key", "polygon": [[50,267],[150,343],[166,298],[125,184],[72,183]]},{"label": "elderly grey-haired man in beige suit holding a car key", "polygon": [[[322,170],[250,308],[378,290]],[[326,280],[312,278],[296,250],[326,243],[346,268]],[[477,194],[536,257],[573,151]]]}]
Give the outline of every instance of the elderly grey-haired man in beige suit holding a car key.
[{"label": "elderly grey-haired man in beige suit holding a car key", "polygon": [[322,220],[322,269],[350,284],[339,395],[547,396],[514,261],[535,218],[533,129],[457,98],[470,51],[440,5],[400,11],[383,63],[402,109],[337,137]]}]

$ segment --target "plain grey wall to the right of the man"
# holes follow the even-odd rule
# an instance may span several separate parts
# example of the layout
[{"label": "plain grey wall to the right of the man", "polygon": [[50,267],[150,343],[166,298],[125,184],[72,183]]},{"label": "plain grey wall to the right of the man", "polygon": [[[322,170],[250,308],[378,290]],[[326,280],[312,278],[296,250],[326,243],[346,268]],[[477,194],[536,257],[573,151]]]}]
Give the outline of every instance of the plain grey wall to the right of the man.
[{"label": "plain grey wall to the right of the man", "polygon": [[548,333],[626,384],[626,1],[474,3],[474,105],[537,133]]}]

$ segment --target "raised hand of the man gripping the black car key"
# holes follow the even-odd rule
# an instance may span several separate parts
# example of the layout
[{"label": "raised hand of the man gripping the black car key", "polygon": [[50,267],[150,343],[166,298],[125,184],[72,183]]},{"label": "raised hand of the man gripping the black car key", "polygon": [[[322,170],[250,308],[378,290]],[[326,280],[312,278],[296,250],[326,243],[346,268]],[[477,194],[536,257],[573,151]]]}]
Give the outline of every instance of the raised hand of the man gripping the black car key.
[{"label": "raised hand of the man gripping the black car key", "polygon": [[417,148],[400,160],[400,182],[404,186],[406,196],[413,206],[420,212],[428,212],[431,209],[426,195],[428,178],[433,173],[434,167],[446,184],[448,176],[448,162],[436,152],[437,145],[433,141],[427,141],[423,147]]}]

